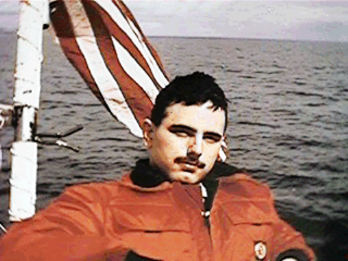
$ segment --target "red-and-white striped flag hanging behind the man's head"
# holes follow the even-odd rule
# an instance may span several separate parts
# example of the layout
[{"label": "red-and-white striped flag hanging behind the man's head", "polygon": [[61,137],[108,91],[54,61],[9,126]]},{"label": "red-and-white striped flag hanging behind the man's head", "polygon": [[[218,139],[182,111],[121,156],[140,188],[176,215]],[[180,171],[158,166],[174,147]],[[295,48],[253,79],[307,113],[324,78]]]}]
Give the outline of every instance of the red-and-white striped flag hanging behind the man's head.
[{"label": "red-and-white striped flag hanging behind the man's head", "polygon": [[119,0],[59,0],[51,21],[60,46],[94,95],[130,132],[141,127],[168,77],[155,49]]}]

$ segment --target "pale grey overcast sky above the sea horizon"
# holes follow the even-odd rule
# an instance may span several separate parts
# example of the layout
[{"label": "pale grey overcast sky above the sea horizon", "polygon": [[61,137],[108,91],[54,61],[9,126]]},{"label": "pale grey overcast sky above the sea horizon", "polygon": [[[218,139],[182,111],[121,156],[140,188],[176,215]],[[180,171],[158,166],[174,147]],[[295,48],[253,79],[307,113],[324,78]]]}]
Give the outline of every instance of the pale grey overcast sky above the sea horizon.
[{"label": "pale grey overcast sky above the sea horizon", "polygon": [[[17,25],[0,0],[0,27]],[[348,41],[348,1],[127,1],[147,35]]]}]

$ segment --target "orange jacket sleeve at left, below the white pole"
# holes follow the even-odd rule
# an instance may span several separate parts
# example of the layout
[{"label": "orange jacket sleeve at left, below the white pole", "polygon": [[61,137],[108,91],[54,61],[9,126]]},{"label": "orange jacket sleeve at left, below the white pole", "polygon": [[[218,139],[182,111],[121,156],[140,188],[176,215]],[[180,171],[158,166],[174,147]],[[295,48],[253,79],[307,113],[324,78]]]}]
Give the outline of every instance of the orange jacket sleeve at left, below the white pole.
[{"label": "orange jacket sleeve at left, below the white pole", "polygon": [[7,260],[124,260],[120,236],[105,227],[107,210],[91,185],[65,191],[46,210],[14,224],[0,239]]}]

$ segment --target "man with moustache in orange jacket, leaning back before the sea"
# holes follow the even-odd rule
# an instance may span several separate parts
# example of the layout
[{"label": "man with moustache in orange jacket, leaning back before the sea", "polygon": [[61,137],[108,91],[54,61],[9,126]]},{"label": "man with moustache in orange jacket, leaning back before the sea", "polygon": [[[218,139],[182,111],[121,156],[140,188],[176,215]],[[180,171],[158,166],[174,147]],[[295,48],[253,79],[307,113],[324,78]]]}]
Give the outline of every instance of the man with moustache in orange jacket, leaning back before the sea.
[{"label": "man with moustache in orange jacket, leaning back before the sea", "polygon": [[149,159],[10,228],[1,260],[314,260],[270,190],[221,162],[227,112],[212,77],[176,77],[144,122]]}]

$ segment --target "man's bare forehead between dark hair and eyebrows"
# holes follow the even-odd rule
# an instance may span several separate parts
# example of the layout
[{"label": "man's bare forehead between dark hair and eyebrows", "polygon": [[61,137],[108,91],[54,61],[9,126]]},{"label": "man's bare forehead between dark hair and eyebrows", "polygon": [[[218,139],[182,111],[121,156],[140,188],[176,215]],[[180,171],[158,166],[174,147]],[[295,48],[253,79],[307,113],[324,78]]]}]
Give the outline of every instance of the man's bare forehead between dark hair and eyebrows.
[{"label": "man's bare forehead between dark hair and eyebrows", "polygon": [[173,104],[166,109],[166,114],[161,122],[163,127],[186,125],[197,131],[216,132],[223,135],[225,112],[221,108],[214,111],[211,101],[189,106],[182,103]]}]

